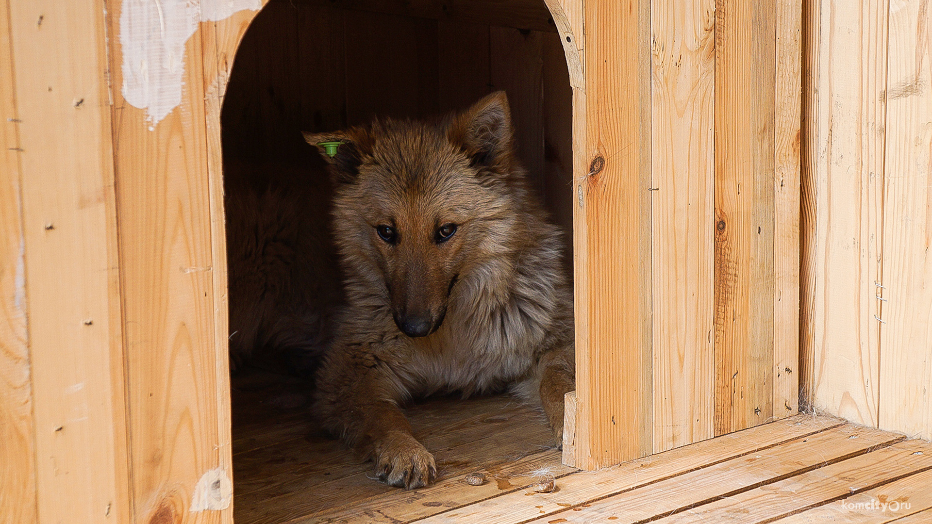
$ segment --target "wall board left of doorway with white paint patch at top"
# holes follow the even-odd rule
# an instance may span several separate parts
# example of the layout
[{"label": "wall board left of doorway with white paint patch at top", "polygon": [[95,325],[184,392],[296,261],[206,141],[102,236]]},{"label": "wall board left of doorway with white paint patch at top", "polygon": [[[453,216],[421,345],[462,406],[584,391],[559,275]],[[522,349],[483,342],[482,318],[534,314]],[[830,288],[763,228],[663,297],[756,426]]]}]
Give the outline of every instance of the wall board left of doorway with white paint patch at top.
[{"label": "wall board left of doorway with white paint patch at top", "polygon": [[[124,46],[132,34],[121,34],[121,28],[162,23],[156,9],[130,12],[123,20],[124,6],[130,4],[107,3],[115,88],[123,85]],[[114,93],[134,521],[232,519],[229,413],[218,404],[226,385],[226,365],[218,359],[226,354],[217,354],[223,347],[215,339],[222,313],[213,289],[214,265],[223,260],[214,260],[212,242],[202,57],[196,32],[184,44],[181,86],[171,83],[167,70],[149,69],[152,86],[182,93],[180,105],[161,120],[152,121],[121,91]],[[132,57],[129,62],[135,63]]]}]

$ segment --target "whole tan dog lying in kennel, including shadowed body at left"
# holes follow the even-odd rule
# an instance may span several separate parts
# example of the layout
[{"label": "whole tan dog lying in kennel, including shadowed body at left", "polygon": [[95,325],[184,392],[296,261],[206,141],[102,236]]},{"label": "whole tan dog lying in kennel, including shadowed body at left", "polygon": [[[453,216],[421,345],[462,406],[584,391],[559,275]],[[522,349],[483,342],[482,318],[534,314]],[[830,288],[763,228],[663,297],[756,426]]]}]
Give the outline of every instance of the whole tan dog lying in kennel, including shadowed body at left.
[{"label": "whole tan dog lying in kennel, including shadowed body at left", "polygon": [[[323,353],[314,414],[391,486],[436,476],[399,409],[413,397],[511,389],[543,407],[560,446],[572,292],[561,234],[516,158],[504,92],[438,122],[305,138],[332,200],[327,177],[308,169],[265,166],[295,183],[260,196],[235,178],[256,168],[225,165],[231,362],[290,353],[313,372]],[[339,143],[333,156],[327,142]],[[330,230],[319,227],[328,205]]]}]

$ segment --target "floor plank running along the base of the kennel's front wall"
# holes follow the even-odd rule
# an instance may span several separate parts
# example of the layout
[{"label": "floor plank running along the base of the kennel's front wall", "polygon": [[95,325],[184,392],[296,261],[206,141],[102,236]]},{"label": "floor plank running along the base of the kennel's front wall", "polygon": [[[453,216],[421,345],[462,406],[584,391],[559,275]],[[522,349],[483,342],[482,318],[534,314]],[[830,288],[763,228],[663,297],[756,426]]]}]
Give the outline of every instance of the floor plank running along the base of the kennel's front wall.
[{"label": "floor plank running along the base of the kennel's front wall", "polygon": [[805,435],[815,436],[840,423],[826,417],[791,417],[614,467],[563,476],[556,481],[559,490],[551,495],[535,495],[528,499],[522,491],[507,493],[424,519],[424,522],[521,522],[539,517],[541,509],[550,515],[658,480],[702,470],[711,464],[774,448]]}]

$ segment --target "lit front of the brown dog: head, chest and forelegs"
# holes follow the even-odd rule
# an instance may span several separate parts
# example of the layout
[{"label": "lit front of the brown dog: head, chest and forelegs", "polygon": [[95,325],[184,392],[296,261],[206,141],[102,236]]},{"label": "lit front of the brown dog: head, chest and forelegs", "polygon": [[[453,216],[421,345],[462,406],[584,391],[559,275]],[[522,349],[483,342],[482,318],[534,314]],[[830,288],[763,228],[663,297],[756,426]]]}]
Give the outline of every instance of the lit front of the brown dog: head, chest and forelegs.
[{"label": "lit front of the brown dog: head, chest and forelegs", "polygon": [[317,375],[328,429],[407,489],[431,484],[432,454],[399,404],[511,387],[563,434],[573,389],[572,293],[562,238],[514,153],[508,101],[488,95],[428,124],[376,121],[306,134],[336,182],[334,236],[347,307]]}]

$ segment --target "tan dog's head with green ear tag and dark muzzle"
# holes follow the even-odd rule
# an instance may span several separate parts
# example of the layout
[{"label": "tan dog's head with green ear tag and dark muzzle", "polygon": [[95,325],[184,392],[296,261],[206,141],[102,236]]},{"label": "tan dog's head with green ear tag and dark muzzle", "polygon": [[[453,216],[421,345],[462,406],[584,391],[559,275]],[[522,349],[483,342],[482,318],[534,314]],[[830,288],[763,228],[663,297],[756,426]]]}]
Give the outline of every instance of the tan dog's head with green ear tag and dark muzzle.
[{"label": "tan dog's head with green ear tag and dark muzzle", "polygon": [[[384,120],[305,138],[336,182],[345,269],[387,297],[409,337],[436,331],[458,280],[522,235],[515,209],[528,189],[503,91],[434,124]],[[336,155],[323,142],[341,143]]]}]

